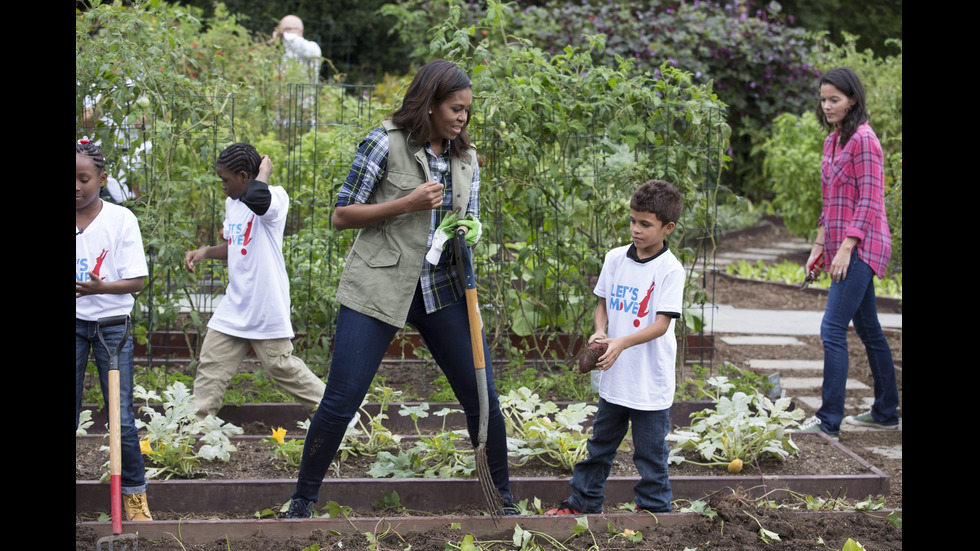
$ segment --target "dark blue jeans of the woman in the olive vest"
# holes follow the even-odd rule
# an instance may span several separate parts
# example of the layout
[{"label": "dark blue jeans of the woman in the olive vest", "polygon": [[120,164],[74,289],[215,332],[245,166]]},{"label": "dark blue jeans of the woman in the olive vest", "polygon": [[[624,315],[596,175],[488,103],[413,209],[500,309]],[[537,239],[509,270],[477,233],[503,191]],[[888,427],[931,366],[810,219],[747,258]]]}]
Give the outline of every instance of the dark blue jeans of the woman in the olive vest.
[{"label": "dark blue jeans of the woman in the olive vest", "polygon": [[[476,446],[480,403],[474,377],[466,302],[460,301],[427,314],[421,289],[416,288],[415,298],[408,312],[408,323],[418,330],[433,359],[446,374],[466,413],[470,440]],[[347,425],[364,400],[388,344],[398,329],[345,306],[340,307],[327,388],[306,434],[303,462],[296,481],[296,493],[292,496],[294,499],[314,502],[318,500],[320,484],[343,441]],[[506,503],[512,500],[507,466],[507,432],[493,386],[493,370],[486,337],[483,339],[483,350],[490,403],[487,463],[494,486]]]}]

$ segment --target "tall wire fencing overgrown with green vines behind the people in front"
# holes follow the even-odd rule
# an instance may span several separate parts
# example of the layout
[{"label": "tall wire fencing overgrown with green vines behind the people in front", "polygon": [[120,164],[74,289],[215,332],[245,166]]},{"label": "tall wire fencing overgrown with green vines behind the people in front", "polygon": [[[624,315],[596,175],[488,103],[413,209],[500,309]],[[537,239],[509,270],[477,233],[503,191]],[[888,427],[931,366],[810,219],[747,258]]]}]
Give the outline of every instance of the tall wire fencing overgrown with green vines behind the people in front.
[{"label": "tall wire fencing overgrown with green vines behind the people in front", "polygon": [[[290,196],[284,256],[296,350],[311,367],[323,366],[315,369],[319,375],[328,363],[336,284],[355,235],[330,224],[336,193],[357,143],[388,115],[372,93],[370,86],[289,84],[285,106],[278,111],[278,142],[263,142],[280,148],[279,157],[273,158],[280,181],[273,183],[283,185]],[[200,335],[227,280],[219,262],[209,262],[189,277],[179,261],[186,250],[221,238],[225,198],[213,166],[221,149],[237,141],[234,98],[183,98],[181,105],[195,102],[212,111],[220,105],[220,116],[199,124],[187,119],[186,110],[175,108],[153,121],[120,127],[90,121],[76,130],[77,137],[99,141],[115,160],[111,174],[142,195],[129,203],[141,217],[150,265],[149,283],[134,313],[140,327],[136,334],[147,343],[148,364],[196,358]],[[474,109],[480,105],[477,98]],[[705,304],[710,304],[714,288],[710,266],[719,232],[717,206],[725,199],[718,187],[725,138],[701,131],[697,142],[689,143],[688,135],[692,124],[719,126],[725,112],[708,108],[692,123],[689,110],[686,105],[651,108],[647,139],[634,147],[623,146],[593,125],[587,133],[542,140],[540,155],[533,160],[515,153],[512,141],[492,126],[495,121],[473,113],[470,132],[479,152],[484,224],[475,268],[495,361],[568,361],[583,335],[591,333],[596,304],[592,290],[605,253],[629,240],[633,189],[644,179],[675,181],[681,177],[678,171],[686,170],[683,180],[693,186],[688,197],[695,200],[685,205],[681,230],[670,246],[688,267],[689,297],[699,300],[689,300],[686,323],[678,323],[678,332],[691,343],[682,347],[687,360],[710,363],[710,347],[696,343],[698,336],[710,333],[698,320],[706,319]],[[177,132],[180,128],[193,131]],[[262,144],[256,145],[267,153]],[[638,179],[631,166],[641,161],[653,169]],[[158,199],[163,196],[166,203]],[[697,288],[703,293],[695,292]],[[425,357],[424,351],[416,354],[410,329],[400,333],[399,341],[406,357]]]}]

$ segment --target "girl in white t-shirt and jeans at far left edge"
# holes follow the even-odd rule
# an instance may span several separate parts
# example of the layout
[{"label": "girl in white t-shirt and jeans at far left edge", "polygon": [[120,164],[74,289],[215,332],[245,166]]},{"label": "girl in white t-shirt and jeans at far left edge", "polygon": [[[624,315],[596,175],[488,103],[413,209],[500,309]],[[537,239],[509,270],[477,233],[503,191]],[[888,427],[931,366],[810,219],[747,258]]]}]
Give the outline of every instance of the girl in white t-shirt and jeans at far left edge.
[{"label": "girl in white t-shirt and jeans at far left edge", "polygon": [[[82,389],[89,354],[95,355],[102,398],[109,403],[109,353],[99,341],[98,320],[128,316],[133,293],[147,275],[143,238],[129,209],[103,201],[106,158],[92,142],[75,144],[75,429],[82,411]],[[102,328],[102,337],[119,352],[121,485],[129,520],[153,520],[146,503],[146,468],[133,415],[133,339],[125,325]]]}]

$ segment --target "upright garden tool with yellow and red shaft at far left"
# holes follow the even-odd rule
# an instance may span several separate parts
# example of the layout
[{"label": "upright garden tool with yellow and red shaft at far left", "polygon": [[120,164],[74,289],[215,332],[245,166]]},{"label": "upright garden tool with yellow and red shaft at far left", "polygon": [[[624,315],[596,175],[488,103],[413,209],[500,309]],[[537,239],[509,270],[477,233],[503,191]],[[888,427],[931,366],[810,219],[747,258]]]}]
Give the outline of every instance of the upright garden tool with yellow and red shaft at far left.
[{"label": "upright garden tool with yellow and red shaft at far left", "polygon": [[[137,534],[122,533],[122,438],[120,437],[119,409],[119,353],[129,337],[129,316],[110,316],[99,318],[99,341],[109,354],[109,496],[112,511],[112,534],[99,538],[98,551],[127,551],[126,542],[132,542],[132,550],[138,548]],[[115,350],[109,348],[102,336],[102,328],[125,324],[126,330]],[[116,543],[119,546],[116,547]],[[103,547],[103,545],[105,545]]]}]

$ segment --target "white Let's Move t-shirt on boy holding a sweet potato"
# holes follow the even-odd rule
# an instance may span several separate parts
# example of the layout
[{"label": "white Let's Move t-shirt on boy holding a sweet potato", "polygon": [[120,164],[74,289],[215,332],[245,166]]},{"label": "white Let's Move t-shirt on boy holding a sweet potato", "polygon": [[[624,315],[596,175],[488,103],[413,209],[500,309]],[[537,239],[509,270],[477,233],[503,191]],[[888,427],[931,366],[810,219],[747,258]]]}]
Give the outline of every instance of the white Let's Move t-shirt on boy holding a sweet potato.
[{"label": "white Let's Move t-shirt on boy holding a sweet potato", "polygon": [[[653,324],[658,313],[680,317],[684,280],[684,266],[666,243],[659,253],[642,261],[636,258],[632,244],[609,251],[594,291],[606,299],[607,336],[641,331]],[[602,372],[599,395],[604,400],[642,411],[659,411],[673,404],[674,323],[672,319],[661,337],[623,350],[616,363]]]}]

